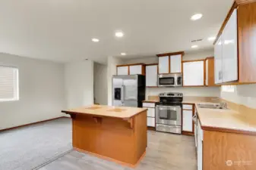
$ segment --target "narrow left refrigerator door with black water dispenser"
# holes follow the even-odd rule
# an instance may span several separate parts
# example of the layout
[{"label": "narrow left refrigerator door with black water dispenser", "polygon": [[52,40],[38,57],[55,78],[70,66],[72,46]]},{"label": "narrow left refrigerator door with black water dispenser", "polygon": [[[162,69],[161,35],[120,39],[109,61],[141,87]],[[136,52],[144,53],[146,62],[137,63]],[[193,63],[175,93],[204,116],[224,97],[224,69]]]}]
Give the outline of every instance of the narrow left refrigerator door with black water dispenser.
[{"label": "narrow left refrigerator door with black water dispenser", "polygon": [[113,77],[112,79],[112,105],[115,107],[122,106],[123,100],[123,80],[119,77]]}]

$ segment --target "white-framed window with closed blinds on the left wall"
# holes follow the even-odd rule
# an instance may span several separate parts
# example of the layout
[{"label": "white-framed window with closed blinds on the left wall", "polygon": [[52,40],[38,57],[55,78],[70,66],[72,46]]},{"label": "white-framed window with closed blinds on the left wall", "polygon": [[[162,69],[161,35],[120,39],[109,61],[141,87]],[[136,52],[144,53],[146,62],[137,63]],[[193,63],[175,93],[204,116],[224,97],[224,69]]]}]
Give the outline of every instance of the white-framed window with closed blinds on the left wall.
[{"label": "white-framed window with closed blinds on the left wall", "polygon": [[0,66],[0,102],[19,100],[18,70]]}]

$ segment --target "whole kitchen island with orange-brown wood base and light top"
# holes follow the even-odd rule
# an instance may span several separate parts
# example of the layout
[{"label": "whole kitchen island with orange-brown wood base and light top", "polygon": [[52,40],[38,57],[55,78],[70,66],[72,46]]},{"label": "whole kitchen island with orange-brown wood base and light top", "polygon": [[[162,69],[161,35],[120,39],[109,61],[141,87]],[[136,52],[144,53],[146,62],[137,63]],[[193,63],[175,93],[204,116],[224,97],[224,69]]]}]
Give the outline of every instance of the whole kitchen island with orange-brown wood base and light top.
[{"label": "whole kitchen island with orange-brown wood base and light top", "polygon": [[147,109],[92,105],[71,115],[74,150],[135,167],[147,147]]}]

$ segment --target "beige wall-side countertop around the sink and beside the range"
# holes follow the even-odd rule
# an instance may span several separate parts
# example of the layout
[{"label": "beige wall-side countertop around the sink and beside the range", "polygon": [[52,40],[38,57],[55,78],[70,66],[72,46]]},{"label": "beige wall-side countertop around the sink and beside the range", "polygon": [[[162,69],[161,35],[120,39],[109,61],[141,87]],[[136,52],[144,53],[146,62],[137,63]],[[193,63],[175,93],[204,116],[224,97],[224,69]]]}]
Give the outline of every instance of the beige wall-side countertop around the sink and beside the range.
[{"label": "beige wall-side countertop around the sink and beside the range", "polygon": [[[155,99],[155,100],[154,100]],[[144,102],[157,102],[157,97],[151,97]],[[198,104],[220,103],[218,97],[183,97],[183,104],[195,104],[198,110],[198,118],[204,130],[229,131],[243,134],[256,134],[256,110],[227,102],[228,110],[199,108]]]}]

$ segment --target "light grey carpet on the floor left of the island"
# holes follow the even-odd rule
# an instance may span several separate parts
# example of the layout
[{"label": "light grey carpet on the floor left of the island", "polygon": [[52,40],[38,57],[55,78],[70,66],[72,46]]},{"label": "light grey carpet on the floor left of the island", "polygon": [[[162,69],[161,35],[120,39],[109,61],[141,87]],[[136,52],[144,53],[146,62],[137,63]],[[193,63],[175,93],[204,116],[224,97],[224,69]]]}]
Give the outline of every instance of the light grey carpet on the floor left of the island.
[{"label": "light grey carpet on the floor left of the island", "polygon": [[71,150],[71,119],[0,132],[0,170],[30,170]]}]

